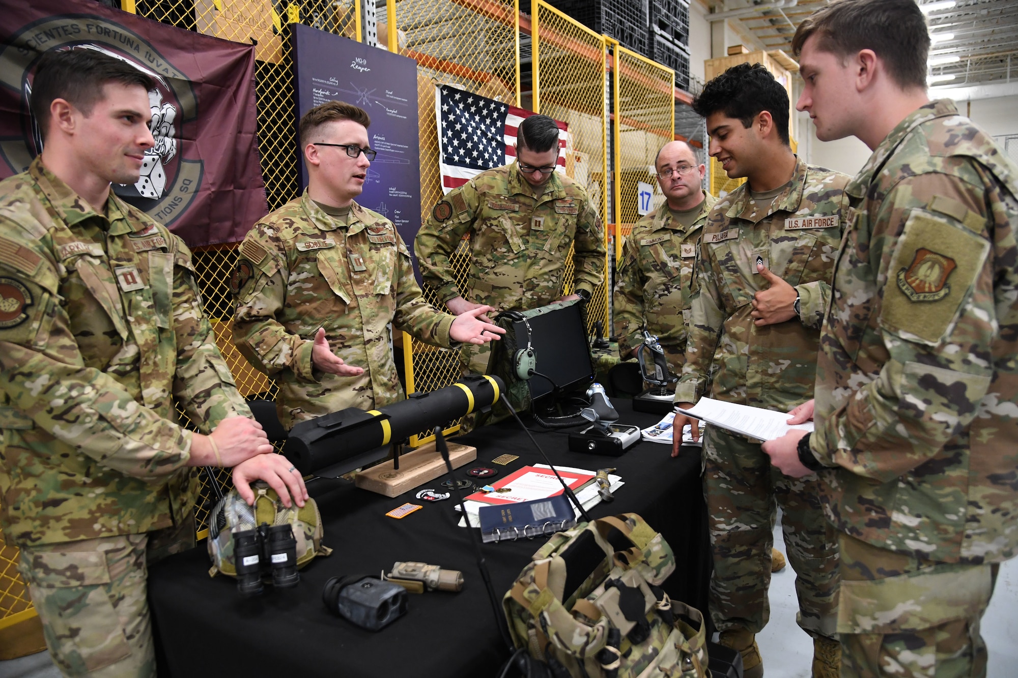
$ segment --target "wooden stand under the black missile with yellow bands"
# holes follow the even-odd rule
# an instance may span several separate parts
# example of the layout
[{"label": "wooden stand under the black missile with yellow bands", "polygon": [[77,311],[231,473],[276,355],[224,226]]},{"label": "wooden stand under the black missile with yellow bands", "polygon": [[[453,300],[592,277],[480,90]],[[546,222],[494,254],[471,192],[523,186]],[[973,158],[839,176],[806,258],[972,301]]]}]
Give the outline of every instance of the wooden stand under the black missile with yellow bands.
[{"label": "wooden stand under the black missile with yellow bands", "polygon": [[[477,458],[477,448],[459,443],[448,443],[449,460],[453,468]],[[393,445],[393,458],[377,466],[358,471],[353,484],[361,490],[376,492],[386,497],[401,495],[446,473],[445,461],[435,449],[435,442],[421,445],[402,454],[402,445]]]}]

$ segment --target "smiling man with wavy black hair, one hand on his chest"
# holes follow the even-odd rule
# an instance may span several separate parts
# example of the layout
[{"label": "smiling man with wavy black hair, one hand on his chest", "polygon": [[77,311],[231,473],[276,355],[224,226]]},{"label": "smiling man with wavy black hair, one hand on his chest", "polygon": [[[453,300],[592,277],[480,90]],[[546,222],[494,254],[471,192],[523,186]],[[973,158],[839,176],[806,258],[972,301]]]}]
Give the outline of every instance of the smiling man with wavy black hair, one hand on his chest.
[{"label": "smiling man with wavy black hair, one hand on his chest", "polygon": [[[720,87],[738,82],[735,91],[739,92],[746,82],[758,86],[760,81],[780,93],[774,110],[783,106],[787,111],[784,89],[758,64],[729,69],[709,83],[702,96],[717,97],[712,88],[716,82]],[[712,132],[712,155],[720,155],[729,167],[736,162],[740,170],[746,168],[749,160],[744,155],[733,158],[725,146],[731,142],[725,139],[736,131],[753,131],[755,126],[743,132],[734,129],[742,126],[739,119],[720,111],[703,112]],[[780,124],[777,116],[774,124]],[[723,126],[727,132],[719,131]],[[727,136],[718,140],[722,133]],[[750,174],[748,181],[718,201],[703,226],[686,363],[675,391],[677,403],[694,403],[710,395],[725,402],[788,411],[812,397],[819,329],[844,227],[843,188],[849,177],[807,165],[787,146],[781,149],[775,156],[793,167],[791,180],[761,203],[750,191],[754,180]],[[773,176],[775,170],[766,171],[773,183],[780,180]],[[764,298],[781,289],[791,299],[797,297],[798,307],[789,309],[784,316],[787,320],[781,322],[761,319]],[[709,384],[712,371],[713,383]],[[683,419],[676,415],[676,430],[685,423]],[[717,427],[708,429],[702,454],[714,554],[711,615],[723,632],[722,640],[724,632],[730,632],[736,643],[732,646],[742,651],[752,646],[754,634],[768,622],[773,528],[776,505],[781,506],[788,560],[797,577],[797,622],[814,638],[814,671],[825,671],[817,662],[827,663],[826,675],[830,675],[837,666],[831,655],[838,645],[831,639],[838,600],[838,550],[834,530],[819,511],[817,478],[789,482],[771,467],[758,442]],[[747,666],[747,675],[762,673],[762,665],[756,667],[750,674]]]}]

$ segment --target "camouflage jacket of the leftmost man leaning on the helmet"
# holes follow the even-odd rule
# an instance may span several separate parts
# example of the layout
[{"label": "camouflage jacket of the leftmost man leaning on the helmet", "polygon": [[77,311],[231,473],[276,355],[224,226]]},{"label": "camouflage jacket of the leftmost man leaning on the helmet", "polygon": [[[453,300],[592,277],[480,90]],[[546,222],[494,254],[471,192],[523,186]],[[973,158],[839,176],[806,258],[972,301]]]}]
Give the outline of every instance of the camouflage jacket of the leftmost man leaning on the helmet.
[{"label": "camouflage jacket of the leftmost man leaning on the helmet", "polygon": [[0,182],[0,491],[10,540],[178,524],[192,435],[250,416],[180,238],[110,194],[106,214],[43,168]]}]

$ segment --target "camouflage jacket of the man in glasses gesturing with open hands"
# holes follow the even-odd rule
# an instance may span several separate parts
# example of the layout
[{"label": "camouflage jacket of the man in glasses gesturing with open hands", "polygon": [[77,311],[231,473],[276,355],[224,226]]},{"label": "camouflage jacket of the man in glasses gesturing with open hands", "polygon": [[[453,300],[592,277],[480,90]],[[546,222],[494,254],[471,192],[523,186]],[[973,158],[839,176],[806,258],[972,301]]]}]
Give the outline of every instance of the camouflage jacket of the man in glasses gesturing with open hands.
[{"label": "camouflage jacket of the man in glasses gesturing with open hands", "polygon": [[[421,298],[396,227],[355,202],[349,225],[323,212],[307,191],[263,218],[240,245],[234,286],[233,341],[276,380],[276,409],[287,429],[403,398],[390,323],[427,343],[459,346],[449,338],[455,317]],[[340,377],[313,368],[319,328],[332,351],[363,374]]]}]

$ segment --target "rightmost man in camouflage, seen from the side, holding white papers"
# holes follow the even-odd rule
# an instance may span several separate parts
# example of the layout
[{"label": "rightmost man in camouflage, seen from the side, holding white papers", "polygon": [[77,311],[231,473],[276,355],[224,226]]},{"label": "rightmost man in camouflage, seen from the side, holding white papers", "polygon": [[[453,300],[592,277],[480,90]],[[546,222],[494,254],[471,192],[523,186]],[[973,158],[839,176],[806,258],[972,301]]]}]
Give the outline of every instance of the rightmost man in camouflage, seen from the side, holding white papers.
[{"label": "rightmost man in camouflage, seen from the side, holding white papers", "polygon": [[[819,73],[799,108],[822,138],[855,133],[873,153],[846,187],[815,411],[797,417],[814,413],[816,430],[768,451],[792,475],[833,469],[823,506],[842,549],[842,676],[982,676],[979,620],[1018,548],[1018,167],[950,100],[889,131],[845,124],[845,111],[883,113],[824,86],[868,48],[831,53],[817,24],[870,20],[909,45],[929,40],[907,0],[839,4],[796,36],[804,76]],[[921,104],[925,49],[899,56],[913,58],[907,87],[891,76],[860,97]]]}]

